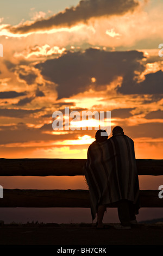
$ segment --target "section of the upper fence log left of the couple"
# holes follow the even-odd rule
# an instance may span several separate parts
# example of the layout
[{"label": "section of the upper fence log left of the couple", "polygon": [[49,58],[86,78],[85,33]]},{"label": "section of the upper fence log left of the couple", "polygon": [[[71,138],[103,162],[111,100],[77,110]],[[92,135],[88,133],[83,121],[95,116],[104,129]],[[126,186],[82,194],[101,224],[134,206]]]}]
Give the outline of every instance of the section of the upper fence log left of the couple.
[{"label": "section of the upper fence log left of the couple", "polygon": [[0,176],[83,175],[84,159],[0,159]]}]

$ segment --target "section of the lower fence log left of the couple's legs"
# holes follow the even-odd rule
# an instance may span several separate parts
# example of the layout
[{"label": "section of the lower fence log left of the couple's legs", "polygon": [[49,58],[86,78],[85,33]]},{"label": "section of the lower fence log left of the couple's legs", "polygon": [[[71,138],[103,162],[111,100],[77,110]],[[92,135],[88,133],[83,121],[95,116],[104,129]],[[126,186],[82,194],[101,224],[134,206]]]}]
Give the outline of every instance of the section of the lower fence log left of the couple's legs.
[{"label": "section of the lower fence log left of the couple's legs", "polygon": [[87,190],[3,190],[0,207],[82,207],[90,206]]}]

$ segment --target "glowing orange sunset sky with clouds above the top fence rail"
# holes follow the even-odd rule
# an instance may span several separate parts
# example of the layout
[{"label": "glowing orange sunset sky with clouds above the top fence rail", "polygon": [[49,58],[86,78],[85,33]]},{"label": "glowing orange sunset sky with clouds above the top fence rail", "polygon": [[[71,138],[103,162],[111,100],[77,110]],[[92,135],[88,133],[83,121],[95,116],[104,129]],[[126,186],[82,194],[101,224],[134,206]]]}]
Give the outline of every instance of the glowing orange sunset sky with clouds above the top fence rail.
[{"label": "glowing orange sunset sky with clouds above the top fence rail", "polygon": [[52,128],[53,112],[69,107],[111,111],[111,130],[134,139],[137,159],[162,159],[162,9],[161,0],[3,1],[1,157],[86,159],[95,130]]}]

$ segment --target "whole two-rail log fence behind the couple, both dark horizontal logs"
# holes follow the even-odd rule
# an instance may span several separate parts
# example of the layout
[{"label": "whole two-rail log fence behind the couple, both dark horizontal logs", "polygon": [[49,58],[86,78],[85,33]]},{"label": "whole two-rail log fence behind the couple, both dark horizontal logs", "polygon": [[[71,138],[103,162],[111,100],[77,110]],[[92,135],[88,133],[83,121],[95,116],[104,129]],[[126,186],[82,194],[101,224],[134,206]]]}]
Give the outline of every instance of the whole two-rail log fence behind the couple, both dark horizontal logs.
[{"label": "whole two-rail log fence behind the couple, both dark horizontal logs", "polygon": [[[0,176],[75,176],[84,175],[85,159],[0,159]],[[163,160],[137,159],[138,175],[163,175]],[[161,176],[160,176],[161,177]],[[162,178],[162,177],[161,177]],[[163,185],[163,179],[160,184]],[[1,180],[0,180],[0,185]],[[141,190],[142,208],[163,207],[159,190]],[[4,208],[90,208],[88,190],[3,189],[0,207]],[[108,207],[116,207],[110,204]]]}]

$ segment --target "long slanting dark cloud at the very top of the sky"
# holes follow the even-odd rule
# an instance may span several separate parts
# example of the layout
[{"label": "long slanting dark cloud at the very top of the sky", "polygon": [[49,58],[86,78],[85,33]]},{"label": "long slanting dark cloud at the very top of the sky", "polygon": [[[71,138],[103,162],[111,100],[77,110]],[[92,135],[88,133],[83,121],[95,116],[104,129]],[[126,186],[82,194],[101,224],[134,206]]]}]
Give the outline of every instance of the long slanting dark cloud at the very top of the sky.
[{"label": "long slanting dark cloud at the very top of the sky", "polygon": [[65,11],[31,23],[15,27],[8,27],[12,33],[28,33],[42,29],[51,29],[57,26],[72,26],[78,22],[86,22],[91,17],[104,15],[123,15],[134,11],[139,5],[136,0],[85,0],[80,1],[76,7],[66,8]]}]

